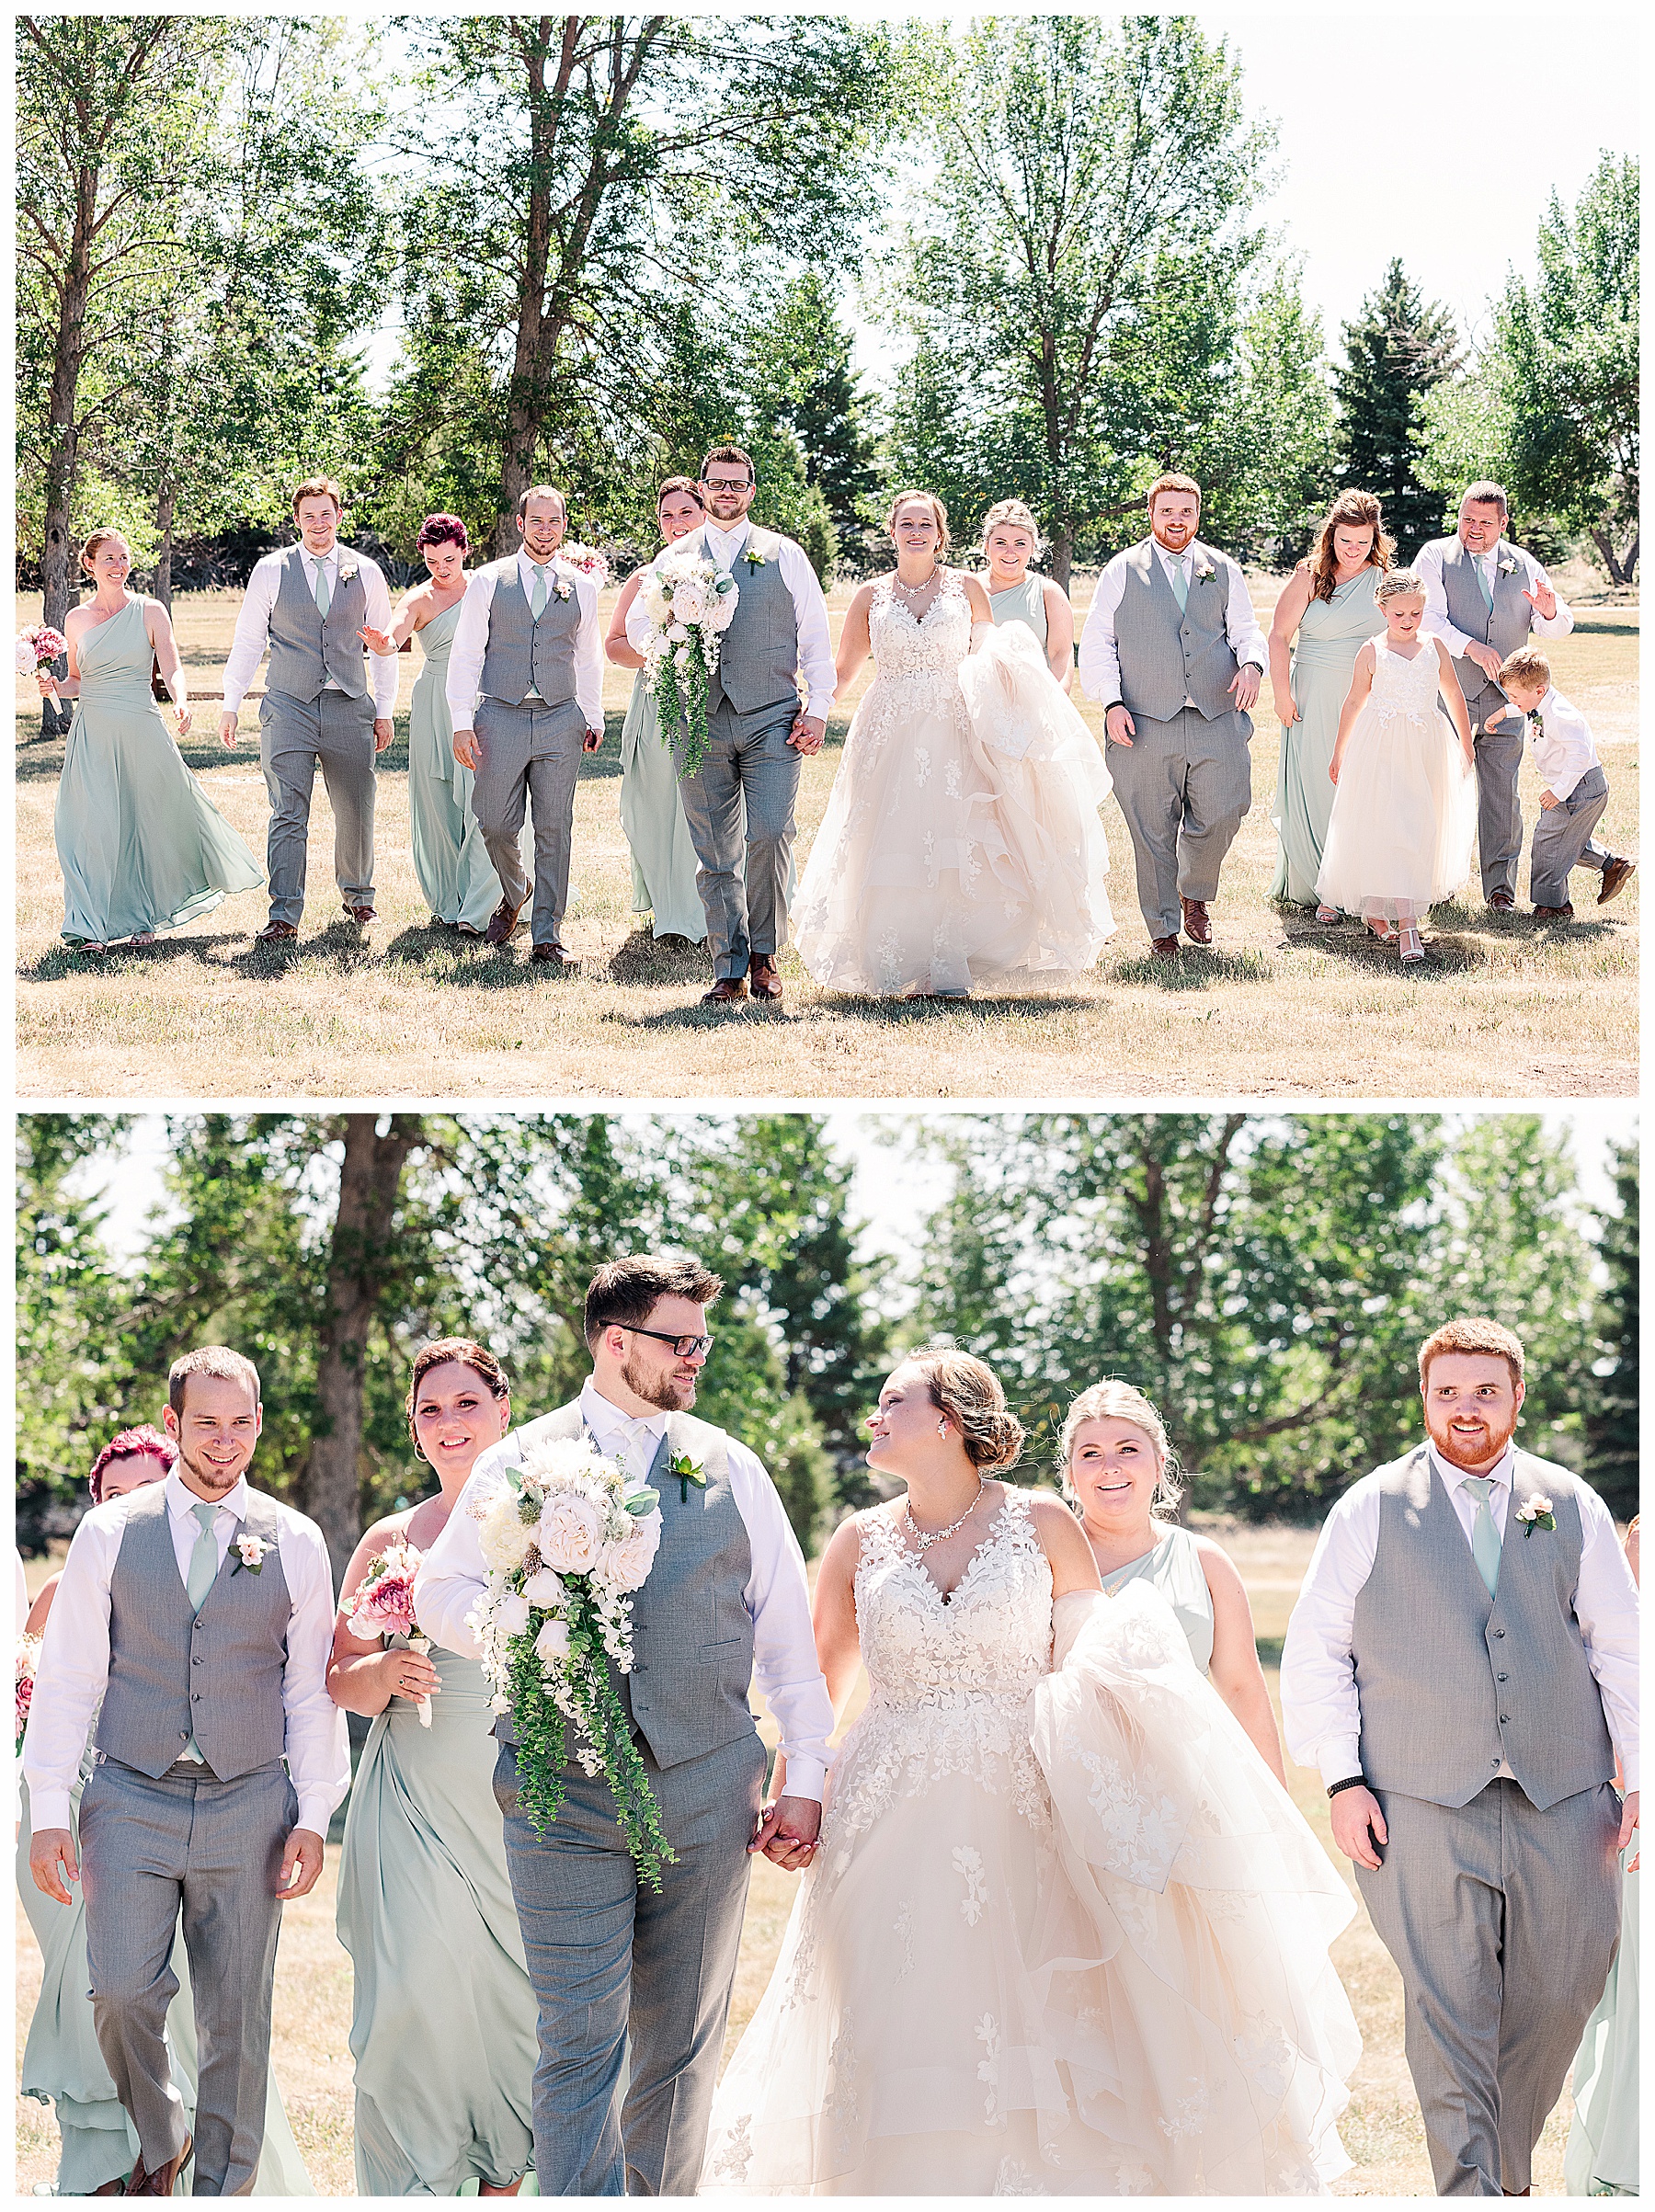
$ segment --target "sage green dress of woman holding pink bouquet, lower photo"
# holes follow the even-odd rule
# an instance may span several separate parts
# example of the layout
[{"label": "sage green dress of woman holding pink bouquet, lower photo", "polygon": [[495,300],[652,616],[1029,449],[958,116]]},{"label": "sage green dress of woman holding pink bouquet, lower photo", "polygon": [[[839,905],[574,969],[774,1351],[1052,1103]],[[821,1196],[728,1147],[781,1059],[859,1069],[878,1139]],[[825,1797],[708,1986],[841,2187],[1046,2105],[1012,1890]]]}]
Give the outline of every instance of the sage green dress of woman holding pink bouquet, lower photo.
[{"label": "sage green dress of woman holding pink bouquet, lower photo", "polygon": [[533,2159],[535,1995],[493,1798],[489,1686],[476,1659],[434,1648],[431,1663],[431,1725],[396,1697],[369,1730],[339,1858],[361,2197],[504,2185]]}]

